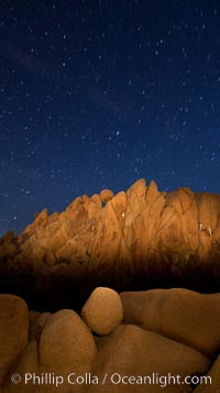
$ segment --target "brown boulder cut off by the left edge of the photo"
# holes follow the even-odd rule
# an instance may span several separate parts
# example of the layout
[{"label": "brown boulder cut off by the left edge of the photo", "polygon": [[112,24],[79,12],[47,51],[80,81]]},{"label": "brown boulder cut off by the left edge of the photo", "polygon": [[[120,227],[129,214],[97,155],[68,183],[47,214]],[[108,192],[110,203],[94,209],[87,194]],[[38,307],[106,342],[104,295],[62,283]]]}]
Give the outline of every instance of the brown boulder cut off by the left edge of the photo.
[{"label": "brown boulder cut off by the left edge of the photo", "polygon": [[0,295],[0,385],[10,364],[24,351],[29,336],[29,310],[23,299]]}]

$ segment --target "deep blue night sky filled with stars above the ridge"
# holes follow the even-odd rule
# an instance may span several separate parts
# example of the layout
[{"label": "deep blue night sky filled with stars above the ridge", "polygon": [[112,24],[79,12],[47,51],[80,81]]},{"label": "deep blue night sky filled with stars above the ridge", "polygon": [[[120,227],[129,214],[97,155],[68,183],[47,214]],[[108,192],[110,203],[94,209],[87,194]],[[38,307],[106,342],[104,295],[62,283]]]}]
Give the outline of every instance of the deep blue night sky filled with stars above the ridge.
[{"label": "deep blue night sky filled with stars above the ridge", "polygon": [[0,235],[142,177],[220,193],[219,0],[1,0],[0,60]]}]

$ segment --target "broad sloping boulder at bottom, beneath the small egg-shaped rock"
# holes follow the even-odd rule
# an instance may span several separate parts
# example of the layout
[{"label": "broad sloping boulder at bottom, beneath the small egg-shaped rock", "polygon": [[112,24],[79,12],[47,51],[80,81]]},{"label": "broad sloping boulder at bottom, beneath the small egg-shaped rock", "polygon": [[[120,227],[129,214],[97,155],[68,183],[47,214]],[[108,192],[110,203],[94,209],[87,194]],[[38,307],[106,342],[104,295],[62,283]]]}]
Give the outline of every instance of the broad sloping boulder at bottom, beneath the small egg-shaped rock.
[{"label": "broad sloping boulder at bottom, beneath the small egg-shaped rock", "polygon": [[97,338],[97,346],[92,374],[101,382],[89,392],[187,393],[191,389],[184,379],[205,374],[211,364],[196,350],[132,325],[120,325],[111,334]]}]

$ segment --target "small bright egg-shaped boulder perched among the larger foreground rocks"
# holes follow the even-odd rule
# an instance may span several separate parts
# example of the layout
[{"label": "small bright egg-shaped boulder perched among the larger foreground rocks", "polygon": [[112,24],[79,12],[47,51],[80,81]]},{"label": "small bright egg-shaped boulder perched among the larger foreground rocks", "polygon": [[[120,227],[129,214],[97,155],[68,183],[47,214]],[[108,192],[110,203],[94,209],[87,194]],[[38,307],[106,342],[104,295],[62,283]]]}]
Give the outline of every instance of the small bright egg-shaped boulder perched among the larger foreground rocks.
[{"label": "small bright egg-shaped boulder perched among the larger foreground rocks", "polygon": [[97,334],[110,333],[123,318],[120,296],[110,288],[96,288],[86,301],[81,317]]}]

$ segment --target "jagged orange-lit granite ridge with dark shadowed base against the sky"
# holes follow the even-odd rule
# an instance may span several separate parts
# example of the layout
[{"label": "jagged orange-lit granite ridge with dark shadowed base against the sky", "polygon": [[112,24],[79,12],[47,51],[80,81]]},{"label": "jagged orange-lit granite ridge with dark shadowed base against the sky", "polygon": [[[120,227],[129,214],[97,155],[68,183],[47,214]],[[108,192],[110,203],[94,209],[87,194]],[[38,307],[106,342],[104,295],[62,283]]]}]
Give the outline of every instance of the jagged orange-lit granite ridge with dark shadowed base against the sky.
[{"label": "jagged orange-lit granite ridge with dark shadowed base against the sky", "polygon": [[140,179],[116,195],[79,197],[62,213],[45,209],[19,236],[7,233],[0,290],[48,305],[56,297],[57,309],[68,306],[62,296],[86,300],[97,286],[217,291],[219,261],[220,195],[160,192]]}]

